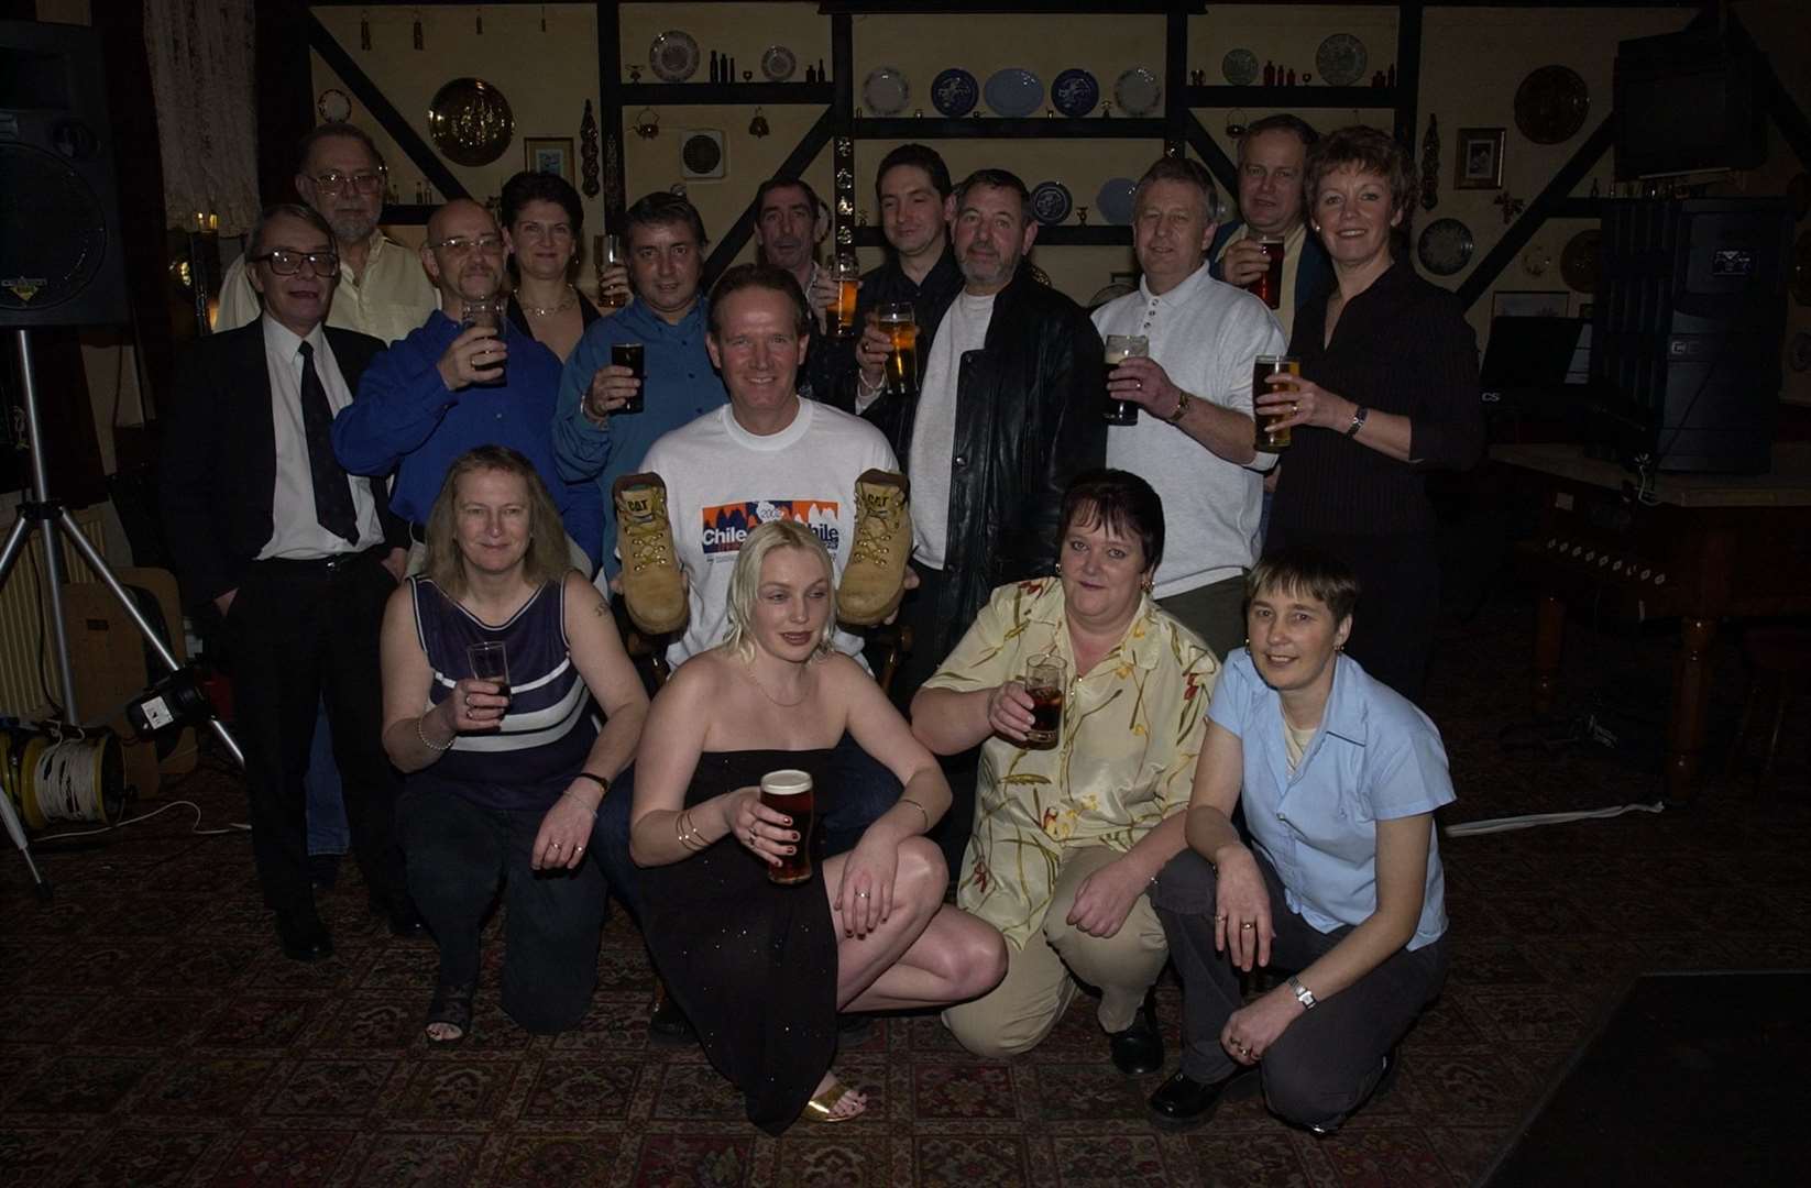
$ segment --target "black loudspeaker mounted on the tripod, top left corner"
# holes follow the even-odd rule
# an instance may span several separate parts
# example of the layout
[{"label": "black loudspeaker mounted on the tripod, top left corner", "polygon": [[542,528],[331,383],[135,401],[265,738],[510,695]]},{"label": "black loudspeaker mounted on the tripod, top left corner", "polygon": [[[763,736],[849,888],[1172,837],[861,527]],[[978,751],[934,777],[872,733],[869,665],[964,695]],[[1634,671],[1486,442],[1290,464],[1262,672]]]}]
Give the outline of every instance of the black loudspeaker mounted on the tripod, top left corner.
[{"label": "black loudspeaker mounted on the tripod, top left corner", "polygon": [[127,321],[105,78],[92,29],[0,20],[0,326]]}]

